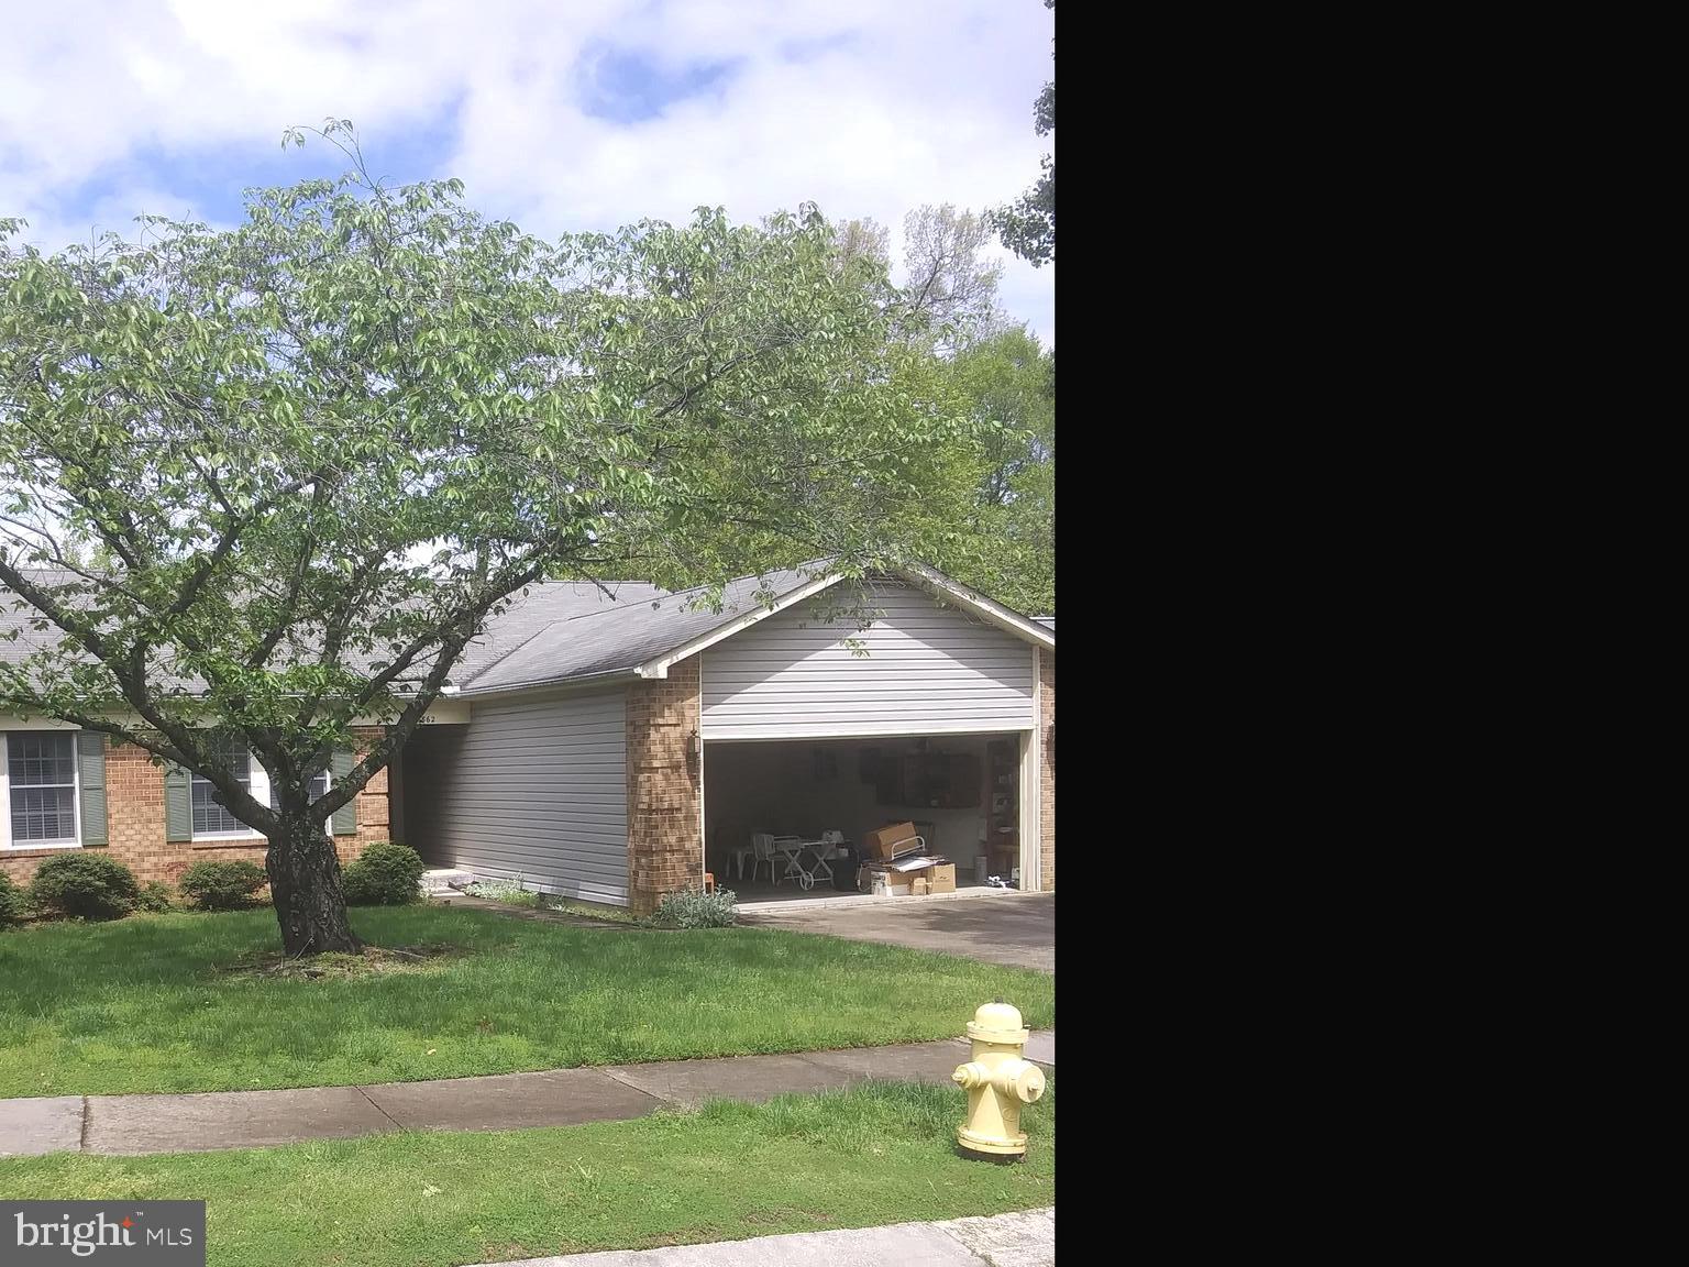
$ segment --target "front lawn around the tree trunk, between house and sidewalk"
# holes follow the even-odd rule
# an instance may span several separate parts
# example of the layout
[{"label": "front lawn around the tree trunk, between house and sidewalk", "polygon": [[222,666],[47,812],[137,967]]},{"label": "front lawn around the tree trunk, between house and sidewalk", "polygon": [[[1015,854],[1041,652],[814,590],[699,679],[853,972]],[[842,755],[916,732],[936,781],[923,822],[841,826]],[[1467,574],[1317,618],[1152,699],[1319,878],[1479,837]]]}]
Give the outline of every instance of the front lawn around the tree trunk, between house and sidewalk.
[{"label": "front lawn around the tree trunk, between house and sidewalk", "polygon": [[735,927],[576,927],[463,907],[360,909],[415,971],[223,971],[277,946],[270,911],[0,933],[0,1096],[336,1086],[956,1037],[997,995],[1056,1019],[1044,973]]}]

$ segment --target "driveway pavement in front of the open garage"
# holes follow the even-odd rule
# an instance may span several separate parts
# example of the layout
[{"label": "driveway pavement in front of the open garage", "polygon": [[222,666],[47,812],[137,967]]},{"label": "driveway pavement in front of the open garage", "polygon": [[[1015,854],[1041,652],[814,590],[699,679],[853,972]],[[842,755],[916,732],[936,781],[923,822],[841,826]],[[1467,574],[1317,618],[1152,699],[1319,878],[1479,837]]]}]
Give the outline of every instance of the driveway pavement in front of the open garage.
[{"label": "driveway pavement in front of the open garage", "polygon": [[991,892],[978,897],[888,897],[796,911],[741,909],[740,921],[1056,971],[1056,894]]}]

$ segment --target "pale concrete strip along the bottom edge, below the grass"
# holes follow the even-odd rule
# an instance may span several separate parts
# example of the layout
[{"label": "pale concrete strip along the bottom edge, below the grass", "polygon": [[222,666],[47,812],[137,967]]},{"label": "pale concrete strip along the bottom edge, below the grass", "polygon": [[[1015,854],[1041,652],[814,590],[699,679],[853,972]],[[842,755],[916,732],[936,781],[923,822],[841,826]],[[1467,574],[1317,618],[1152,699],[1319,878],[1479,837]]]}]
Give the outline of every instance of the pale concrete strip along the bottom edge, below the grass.
[{"label": "pale concrete strip along the bottom edge, below the grass", "polygon": [[569,1253],[488,1267],[1054,1267],[1056,1208],[942,1223]]}]

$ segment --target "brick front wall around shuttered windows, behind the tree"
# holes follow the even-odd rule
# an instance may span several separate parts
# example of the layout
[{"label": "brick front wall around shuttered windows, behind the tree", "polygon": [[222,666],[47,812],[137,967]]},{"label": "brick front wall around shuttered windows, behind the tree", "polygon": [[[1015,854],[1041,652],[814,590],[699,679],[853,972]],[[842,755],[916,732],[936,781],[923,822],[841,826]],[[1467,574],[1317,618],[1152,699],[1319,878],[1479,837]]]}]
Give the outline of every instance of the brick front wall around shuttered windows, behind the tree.
[{"label": "brick front wall around shuttered windows, behind the tree", "polygon": [[[380,737],[380,726],[361,726],[356,755],[368,752],[368,742]],[[334,851],[341,863],[363,853],[363,846],[388,840],[390,814],[387,802],[387,770],[377,774],[358,792],[358,833],[334,836]],[[164,838],[164,767],[152,764],[152,753],[133,743],[106,745],[106,835],[105,853],[122,862],[145,884],[160,880],[174,885],[184,870],[204,858],[245,858],[263,865],[269,841],[201,841],[198,845]],[[42,858],[64,850],[0,850],[0,872],[19,884],[27,884]]]}]

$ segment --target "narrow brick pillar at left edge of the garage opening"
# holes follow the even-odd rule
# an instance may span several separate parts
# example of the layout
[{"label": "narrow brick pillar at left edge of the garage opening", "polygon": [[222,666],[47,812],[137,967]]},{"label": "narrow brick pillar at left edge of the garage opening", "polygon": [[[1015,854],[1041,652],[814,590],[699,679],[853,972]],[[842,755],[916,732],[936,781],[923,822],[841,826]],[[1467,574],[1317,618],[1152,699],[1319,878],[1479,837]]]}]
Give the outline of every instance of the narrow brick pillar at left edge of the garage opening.
[{"label": "narrow brick pillar at left edge of the garage opening", "polygon": [[628,688],[628,904],[650,914],[662,895],[703,882],[698,657]]}]

